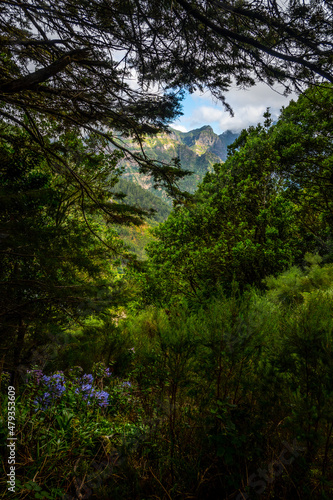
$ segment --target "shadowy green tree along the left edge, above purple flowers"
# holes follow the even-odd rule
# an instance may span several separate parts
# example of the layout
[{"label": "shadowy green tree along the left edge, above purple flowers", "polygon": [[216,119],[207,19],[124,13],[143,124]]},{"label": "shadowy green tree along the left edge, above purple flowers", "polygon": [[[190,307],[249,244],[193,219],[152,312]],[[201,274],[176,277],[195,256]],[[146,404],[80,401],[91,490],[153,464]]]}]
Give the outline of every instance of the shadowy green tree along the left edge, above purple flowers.
[{"label": "shadowy green tree along the left edge, above purple flowers", "polygon": [[[71,144],[71,162],[79,162],[82,179],[95,183],[99,202],[106,203],[117,155],[106,164],[104,155],[89,153],[70,135],[63,140]],[[0,155],[1,351],[14,377],[45,344],[55,343],[62,328],[116,305],[119,255],[123,262],[130,255],[117,233],[96,218],[95,204],[52,174],[41,150],[29,148],[26,133],[2,124]],[[119,206],[119,220],[137,220]]]}]

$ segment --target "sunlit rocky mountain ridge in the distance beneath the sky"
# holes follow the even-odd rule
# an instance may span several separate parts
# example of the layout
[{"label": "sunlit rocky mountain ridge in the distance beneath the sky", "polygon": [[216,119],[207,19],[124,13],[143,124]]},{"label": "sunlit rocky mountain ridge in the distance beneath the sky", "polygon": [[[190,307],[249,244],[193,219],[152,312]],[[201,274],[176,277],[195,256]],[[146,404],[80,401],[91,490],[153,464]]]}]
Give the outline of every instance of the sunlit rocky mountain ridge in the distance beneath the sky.
[{"label": "sunlit rocky mountain ridge in the distance beneath the sky", "polygon": [[[230,130],[217,135],[209,125],[190,132],[179,132],[170,128],[170,133],[146,137],[144,150],[149,157],[168,163],[172,158],[179,157],[182,168],[193,171],[193,174],[185,178],[180,186],[193,193],[205,174],[212,170],[213,165],[226,160],[227,146],[232,144],[238,136],[239,134],[234,134]],[[138,146],[129,139],[123,140],[129,149],[139,151]],[[123,160],[122,165],[125,166],[124,179],[136,182],[166,203],[171,203],[162,190],[155,190],[152,187],[153,183],[149,176],[139,174],[133,162]]]}]

